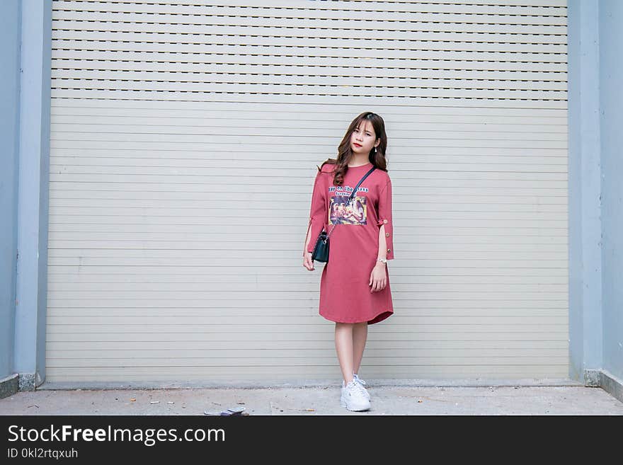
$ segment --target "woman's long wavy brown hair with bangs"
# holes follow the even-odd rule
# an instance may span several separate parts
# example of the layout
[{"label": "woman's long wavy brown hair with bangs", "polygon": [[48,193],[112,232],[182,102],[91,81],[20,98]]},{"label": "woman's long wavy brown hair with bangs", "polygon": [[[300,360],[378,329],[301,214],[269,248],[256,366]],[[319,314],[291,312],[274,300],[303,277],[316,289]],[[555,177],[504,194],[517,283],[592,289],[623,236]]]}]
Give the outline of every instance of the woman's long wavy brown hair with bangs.
[{"label": "woman's long wavy brown hair with bangs", "polygon": [[[353,159],[353,151],[350,149],[350,136],[355,131],[355,128],[359,127],[360,122],[363,120],[368,120],[372,123],[372,127],[375,130],[375,135],[377,139],[381,139],[378,147],[372,147],[370,154],[368,155],[368,160],[377,168],[382,169],[383,171],[387,171],[387,160],[385,159],[385,151],[387,149],[387,134],[385,134],[385,122],[383,118],[377,115],[376,113],[372,113],[371,111],[365,111],[355,117],[353,122],[348,126],[348,130],[346,130],[346,134],[340,142],[338,146],[338,158],[337,159],[326,159],[323,161],[321,166],[316,166],[318,171],[322,170],[322,167],[326,163],[334,164],[333,168],[333,185],[341,185],[344,181],[344,176],[346,171],[348,171],[348,163]],[[375,139],[376,142],[376,139]]]}]

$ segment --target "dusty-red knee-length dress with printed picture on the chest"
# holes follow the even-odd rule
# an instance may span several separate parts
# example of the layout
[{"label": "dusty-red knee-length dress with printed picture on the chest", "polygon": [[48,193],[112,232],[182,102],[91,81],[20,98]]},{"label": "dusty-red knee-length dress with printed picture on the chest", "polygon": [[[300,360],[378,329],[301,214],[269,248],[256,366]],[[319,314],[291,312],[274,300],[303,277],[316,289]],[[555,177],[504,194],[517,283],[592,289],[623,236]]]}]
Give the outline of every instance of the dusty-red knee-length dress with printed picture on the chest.
[{"label": "dusty-red knee-length dress with printed picture on the chest", "polygon": [[[394,231],[391,223],[391,180],[377,168],[365,178],[350,205],[348,196],[372,163],[348,168],[342,185],[333,185],[331,163],[316,174],[311,195],[307,251],[313,252],[324,228],[329,236],[328,263],[322,265],[319,314],[330,321],[374,324],[394,313],[386,266],[387,285],[370,292],[370,273],[379,257],[379,229],[385,226],[387,260],[394,258]],[[336,226],[333,226],[336,224]]]}]

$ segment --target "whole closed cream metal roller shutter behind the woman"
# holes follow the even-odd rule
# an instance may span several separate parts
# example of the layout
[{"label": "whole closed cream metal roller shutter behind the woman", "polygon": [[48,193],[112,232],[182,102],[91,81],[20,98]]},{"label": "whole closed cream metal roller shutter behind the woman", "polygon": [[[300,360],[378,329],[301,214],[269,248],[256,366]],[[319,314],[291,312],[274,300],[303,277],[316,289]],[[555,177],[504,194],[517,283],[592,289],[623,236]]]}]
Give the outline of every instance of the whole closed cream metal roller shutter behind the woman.
[{"label": "whole closed cream metal roller shutter behind the woman", "polygon": [[[369,378],[567,377],[566,1],[53,1],[47,381],[340,379],[315,165],[387,124]],[[362,375],[363,376],[363,375]]]}]

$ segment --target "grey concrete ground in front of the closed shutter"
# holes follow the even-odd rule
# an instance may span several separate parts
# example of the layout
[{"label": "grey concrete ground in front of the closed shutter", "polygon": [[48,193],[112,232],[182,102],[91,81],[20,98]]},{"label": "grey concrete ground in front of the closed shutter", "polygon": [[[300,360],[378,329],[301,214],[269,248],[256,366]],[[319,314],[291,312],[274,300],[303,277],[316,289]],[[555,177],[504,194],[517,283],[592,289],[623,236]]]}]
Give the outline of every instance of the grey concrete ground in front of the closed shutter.
[{"label": "grey concrete ground in front of the closed shutter", "polygon": [[340,406],[340,384],[185,387],[44,383],[0,399],[0,415],[623,415],[623,403],[576,381],[365,380],[372,407]]}]

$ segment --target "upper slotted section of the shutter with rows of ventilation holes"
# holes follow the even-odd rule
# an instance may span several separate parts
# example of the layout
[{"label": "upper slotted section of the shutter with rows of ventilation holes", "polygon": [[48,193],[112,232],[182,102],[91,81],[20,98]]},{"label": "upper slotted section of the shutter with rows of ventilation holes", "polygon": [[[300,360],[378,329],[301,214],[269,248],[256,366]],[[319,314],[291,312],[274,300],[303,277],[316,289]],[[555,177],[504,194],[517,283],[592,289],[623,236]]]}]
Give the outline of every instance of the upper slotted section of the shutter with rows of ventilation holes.
[{"label": "upper slotted section of the shutter with rows of ventilation holes", "polygon": [[564,1],[190,3],[55,1],[52,96],[566,101]]}]

